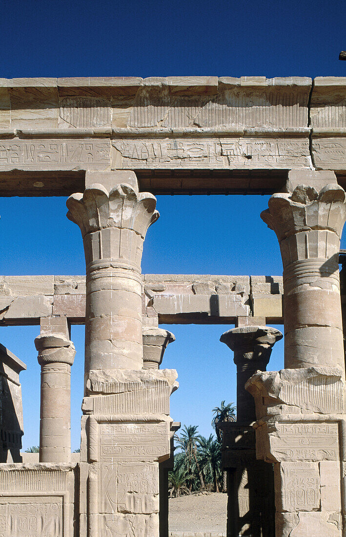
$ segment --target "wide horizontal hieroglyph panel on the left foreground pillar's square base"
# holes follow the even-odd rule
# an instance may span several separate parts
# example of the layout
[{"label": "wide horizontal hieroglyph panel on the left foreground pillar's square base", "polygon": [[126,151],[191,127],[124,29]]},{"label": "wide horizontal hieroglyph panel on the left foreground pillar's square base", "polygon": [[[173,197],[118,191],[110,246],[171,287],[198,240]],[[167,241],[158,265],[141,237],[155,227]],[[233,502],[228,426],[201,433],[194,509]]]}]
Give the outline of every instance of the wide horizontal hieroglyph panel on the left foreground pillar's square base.
[{"label": "wide horizontal hieroglyph panel on the left foreground pillar's square base", "polygon": [[167,423],[100,424],[100,461],[155,461],[170,453]]}]

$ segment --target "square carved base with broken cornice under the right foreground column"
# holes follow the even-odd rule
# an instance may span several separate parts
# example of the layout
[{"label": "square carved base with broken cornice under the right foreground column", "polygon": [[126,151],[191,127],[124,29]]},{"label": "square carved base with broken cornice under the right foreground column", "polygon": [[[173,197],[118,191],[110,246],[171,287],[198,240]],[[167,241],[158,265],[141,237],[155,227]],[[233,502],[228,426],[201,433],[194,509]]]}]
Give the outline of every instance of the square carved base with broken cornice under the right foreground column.
[{"label": "square carved base with broken cornice under the right foreground column", "polygon": [[274,464],[276,537],[344,537],[344,382],[338,368],[256,373],[256,456]]}]

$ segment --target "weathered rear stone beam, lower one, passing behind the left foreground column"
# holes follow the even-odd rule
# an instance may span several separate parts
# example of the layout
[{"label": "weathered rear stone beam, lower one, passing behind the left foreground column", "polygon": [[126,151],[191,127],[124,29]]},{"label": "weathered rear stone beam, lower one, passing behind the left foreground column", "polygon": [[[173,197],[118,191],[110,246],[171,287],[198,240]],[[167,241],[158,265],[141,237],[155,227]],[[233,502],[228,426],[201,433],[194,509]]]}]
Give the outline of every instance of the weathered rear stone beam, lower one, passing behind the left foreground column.
[{"label": "weathered rear stone beam, lower one, passing behind the left foreground column", "polygon": [[[282,277],[198,274],[142,276],[145,326],[158,323],[241,325],[265,318],[282,323]],[[85,277],[80,275],[0,276],[0,324],[40,324],[40,318],[85,322]]]}]

